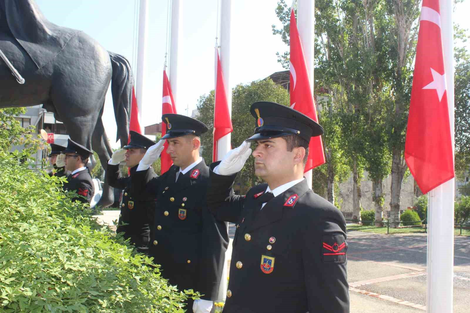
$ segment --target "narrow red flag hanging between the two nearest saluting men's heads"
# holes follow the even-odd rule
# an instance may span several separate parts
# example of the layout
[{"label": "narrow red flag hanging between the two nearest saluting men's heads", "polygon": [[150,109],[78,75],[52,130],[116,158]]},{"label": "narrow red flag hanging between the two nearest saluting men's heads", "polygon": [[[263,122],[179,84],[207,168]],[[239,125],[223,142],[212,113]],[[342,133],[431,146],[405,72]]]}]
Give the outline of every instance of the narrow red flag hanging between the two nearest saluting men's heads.
[{"label": "narrow red flag hanging between the two nearest saluting men's heads", "polygon": [[228,112],[227,94],[225,94],[225,82],[220,64],[219,49],[215,48],[215,58],[217,68],[217,81],[215,86],[214,103],[214,141],[212,149],[212,162],[217,161],[217,141],[227,133],[233,132],[232,120]]}]

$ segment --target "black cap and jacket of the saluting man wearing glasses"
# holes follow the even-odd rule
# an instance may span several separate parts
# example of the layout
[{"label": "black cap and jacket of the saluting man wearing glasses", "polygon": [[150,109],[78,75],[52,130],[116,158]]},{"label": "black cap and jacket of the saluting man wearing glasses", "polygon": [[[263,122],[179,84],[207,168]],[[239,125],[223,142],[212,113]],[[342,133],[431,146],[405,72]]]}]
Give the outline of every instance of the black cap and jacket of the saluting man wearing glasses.
[{"label": "black cap and jacket of the saluting man wearing glasses", "polygon": [[[86,159],[93,153],[84,146],[78,144],[71,139],[68,140],[67,149],[63,153],[76,153]],[[77,196],[72,201],[78,200],[81,203],[90,203],[94,195],[93,180],[88,168],[67,176],[67,182],[63,184],[64,191],[75,190]]]}]

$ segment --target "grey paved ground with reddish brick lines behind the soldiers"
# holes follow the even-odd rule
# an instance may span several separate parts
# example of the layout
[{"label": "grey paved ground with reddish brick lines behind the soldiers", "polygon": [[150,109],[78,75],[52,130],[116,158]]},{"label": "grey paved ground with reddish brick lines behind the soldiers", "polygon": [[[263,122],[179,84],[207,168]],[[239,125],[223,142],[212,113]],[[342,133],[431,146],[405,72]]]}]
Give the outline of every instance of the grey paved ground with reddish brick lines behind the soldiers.
[{"label": "grey paved ground with reddish brick lines behind the soldiers", "polygon": [[[119,211],[96,216],[114,225]],[[230,265],[235,225],[229,223]],[[426,234],[348,232],[351,313],[413,313],[426,310]],[[454,237],[454,313],[470,312],[470,237]]]}]

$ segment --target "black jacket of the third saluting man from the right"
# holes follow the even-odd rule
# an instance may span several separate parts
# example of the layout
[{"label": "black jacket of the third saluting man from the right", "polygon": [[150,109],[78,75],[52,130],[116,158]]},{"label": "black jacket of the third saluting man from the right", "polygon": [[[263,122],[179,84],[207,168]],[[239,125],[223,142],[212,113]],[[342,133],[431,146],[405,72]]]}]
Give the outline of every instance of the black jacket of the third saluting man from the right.
[{"label": "black jacket of the third saluting man from the right", "polygon": [[[131,168],[131,176],[135,174],[137,165]],[[124,232],[124,238],[130,238],[139,252],[149,249],[150,226],[153,224],[156,196],[152,184],[148,182],[157,178],[153,168],[149,168],[144,190],[138,192],[133,190],[130,177],[119,178],[119,165],[108,164],[106,168],[106,181],[111,187],[124,189],[119,214],[118,229],[116,233]],[[127,224],[127,225],[123,225]]]}]

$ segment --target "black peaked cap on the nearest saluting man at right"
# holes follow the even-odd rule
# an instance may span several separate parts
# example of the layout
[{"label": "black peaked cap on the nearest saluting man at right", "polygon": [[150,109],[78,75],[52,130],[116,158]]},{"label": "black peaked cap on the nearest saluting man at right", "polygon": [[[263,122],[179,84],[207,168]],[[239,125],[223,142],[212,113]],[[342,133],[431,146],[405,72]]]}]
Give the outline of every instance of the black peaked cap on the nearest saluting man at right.
[{"label": "black peaked cap on the nearest saluting man at right", "polygon": [[323,134],[323,128],[310,117],[274,102],[259,101],[251,105],[255,117],[255,134],[246,141],[298,135],[310,142],[310,137]]}]

